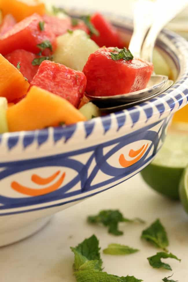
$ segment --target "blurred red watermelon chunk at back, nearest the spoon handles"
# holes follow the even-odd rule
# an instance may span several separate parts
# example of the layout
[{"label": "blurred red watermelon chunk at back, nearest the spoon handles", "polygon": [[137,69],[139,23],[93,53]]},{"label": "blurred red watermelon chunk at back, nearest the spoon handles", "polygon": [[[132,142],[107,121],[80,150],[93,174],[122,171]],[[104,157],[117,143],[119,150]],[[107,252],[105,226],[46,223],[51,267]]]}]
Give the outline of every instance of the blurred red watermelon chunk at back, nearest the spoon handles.
[{"label": "blurred red watermelon chunk at back, nearest the spoon handles", "polygon": [[91,39],[95,41],[99,47],[115,46],[122,48],[125,46],[123,40],[118,34],[117,28],[107,21],[100,13],[93,14],[91,17],[91,23],[93,23],[94,27],[99,32],[99,36],[93,34]]}]

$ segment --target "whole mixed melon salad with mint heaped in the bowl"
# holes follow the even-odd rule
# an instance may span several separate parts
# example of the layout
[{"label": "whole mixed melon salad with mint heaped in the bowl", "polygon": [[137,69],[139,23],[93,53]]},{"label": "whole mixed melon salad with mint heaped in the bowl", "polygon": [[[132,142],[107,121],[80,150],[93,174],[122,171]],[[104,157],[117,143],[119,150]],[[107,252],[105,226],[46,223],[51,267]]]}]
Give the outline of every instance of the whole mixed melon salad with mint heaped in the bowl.
[{"label": "whole mixed melon salad with mint heaped in the bowl", "polygon": [[73,18],[38,0],[0,0],[0,133],[100,115],[87,98],[146,87],[153,64],[134,58],[100,13]]}]

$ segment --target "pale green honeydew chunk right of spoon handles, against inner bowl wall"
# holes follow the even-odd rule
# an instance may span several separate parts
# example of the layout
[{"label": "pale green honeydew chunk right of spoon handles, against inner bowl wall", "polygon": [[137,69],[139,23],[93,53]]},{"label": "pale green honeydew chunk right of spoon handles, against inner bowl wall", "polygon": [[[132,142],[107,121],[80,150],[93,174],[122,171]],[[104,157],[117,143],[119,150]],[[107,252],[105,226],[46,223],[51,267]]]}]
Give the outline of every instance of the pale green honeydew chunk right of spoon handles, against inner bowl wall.
[{"label": "pale green honeydew chunk right of spoon handles, against inner bowl wall", "polygon": [[153,65],[156,74],[167,75],[168,77],[171,75],[170,67],[156,48],[153,51]]}]

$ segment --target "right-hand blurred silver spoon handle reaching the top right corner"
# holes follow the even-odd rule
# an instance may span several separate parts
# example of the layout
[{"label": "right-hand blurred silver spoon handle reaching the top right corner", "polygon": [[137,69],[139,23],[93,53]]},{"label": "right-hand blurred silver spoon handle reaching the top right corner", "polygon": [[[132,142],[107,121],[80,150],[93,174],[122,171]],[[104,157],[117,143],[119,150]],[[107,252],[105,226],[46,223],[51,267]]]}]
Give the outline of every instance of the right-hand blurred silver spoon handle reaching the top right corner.
[{"label": "right-hand blurred silver spoon handle reaching the top right corner", "polygon": [[156,38],[160,31],[171,21],[179,12],[181,12],[188,5],[188,0],[156,0],[154,3],[154,19],[153,25],[146,36],[141,58],[152,62],[153,49]]}]

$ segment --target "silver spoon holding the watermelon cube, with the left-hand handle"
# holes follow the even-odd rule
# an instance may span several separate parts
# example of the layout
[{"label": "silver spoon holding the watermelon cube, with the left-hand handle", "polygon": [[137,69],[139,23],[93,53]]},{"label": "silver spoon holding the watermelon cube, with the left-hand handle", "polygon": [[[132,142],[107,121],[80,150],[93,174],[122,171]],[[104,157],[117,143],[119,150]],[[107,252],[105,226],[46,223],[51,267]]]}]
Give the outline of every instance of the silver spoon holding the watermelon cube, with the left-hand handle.
[{"label": "silver spoon holding the watermelon cube, with the left-hand handle", "polygon": [[[149,0],[139,0],[134,8],[134,32],[130,41],[129,49],[137,58],[141,56],[141,47],[144,38],[153,21],[154,3]],[[153,48],[153,47],[152,47]],[[150,60],[149,60],[150,61]],[[151,62],[151,61],[150,61]],[[153,74],[148,82],[147,88],[134,91],[131,93],[112,95],[112,96],[93,96],[86,94],[91,100],[101,100],[106,103],[126,103],[138,101],[150,97],[159,92],[167,82],[168,77],[165,75]]]}]

